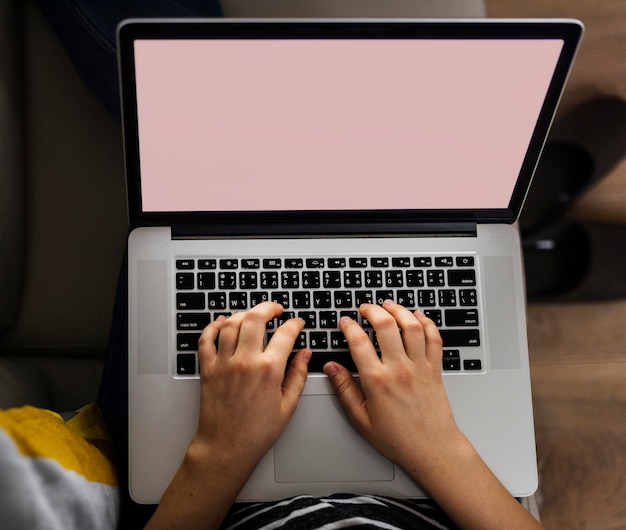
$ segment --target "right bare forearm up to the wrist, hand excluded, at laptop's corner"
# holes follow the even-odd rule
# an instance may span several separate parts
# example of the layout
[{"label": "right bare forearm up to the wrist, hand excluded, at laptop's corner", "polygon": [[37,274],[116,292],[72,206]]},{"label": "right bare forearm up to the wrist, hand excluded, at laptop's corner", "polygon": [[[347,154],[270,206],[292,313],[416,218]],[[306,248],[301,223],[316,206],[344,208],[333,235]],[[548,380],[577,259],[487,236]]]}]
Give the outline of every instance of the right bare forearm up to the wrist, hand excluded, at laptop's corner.
[{"label": "right bare forearm up to the wrist, hand excluded, at laptop's corner", "polygon": [[405,470],[464,530],[542,526],[506,490],[462,435],[427,465]]}]

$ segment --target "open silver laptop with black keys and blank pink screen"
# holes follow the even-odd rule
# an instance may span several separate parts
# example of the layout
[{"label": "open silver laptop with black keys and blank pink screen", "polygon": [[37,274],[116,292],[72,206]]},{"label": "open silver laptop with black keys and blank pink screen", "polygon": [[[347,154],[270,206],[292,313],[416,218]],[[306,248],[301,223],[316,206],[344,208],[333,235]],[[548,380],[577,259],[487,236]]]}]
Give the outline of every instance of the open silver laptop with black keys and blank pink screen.
[{"label": "open silver laptop with black keys and blank pink screen", "polygon": [[321,373],[354,369],[337,321],[385,298],[436,321],[460,428],[512,494],[535,491],[515,221],[581,34],[573,20],[120,26],[137,502],[159,502],[195,432],[202,328],[263,300],[305,319],[294,348],[314,356],[239,500],[424,496]]}]

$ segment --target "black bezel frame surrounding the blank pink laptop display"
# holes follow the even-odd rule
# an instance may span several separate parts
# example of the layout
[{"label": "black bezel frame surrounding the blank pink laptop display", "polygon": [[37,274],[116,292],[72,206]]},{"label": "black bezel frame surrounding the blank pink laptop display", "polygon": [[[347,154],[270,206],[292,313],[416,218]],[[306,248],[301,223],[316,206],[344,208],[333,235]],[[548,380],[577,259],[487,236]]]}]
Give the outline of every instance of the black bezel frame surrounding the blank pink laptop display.
[{"label": "black bezel frame surrounding the blank pink laptop display", "polygon": [[[524,203],[581,35],[575,20],[131,20],[118,28],[122,117],[131,226],[513,223]],[[146,212],[141,202],[134,42],[143,39],[558,39],[563,41],[539,119],[507,208],[349,211]]]}]

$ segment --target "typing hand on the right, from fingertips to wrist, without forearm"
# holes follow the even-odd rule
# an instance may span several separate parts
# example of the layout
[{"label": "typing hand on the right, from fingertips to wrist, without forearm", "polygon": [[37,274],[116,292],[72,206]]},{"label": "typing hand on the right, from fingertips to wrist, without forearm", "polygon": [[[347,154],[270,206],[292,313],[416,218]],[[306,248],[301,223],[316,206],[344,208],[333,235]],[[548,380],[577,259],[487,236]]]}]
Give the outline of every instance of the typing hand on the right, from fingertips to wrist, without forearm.
[{"label": "typing hand on the right, from fingertips to wrist, without forearm", "polygon": [[380,358],[358,323],[343,318],[341,330],[361,385],[337,363],[327,363],[324,372],[358,432],[419,478],[433,458],[464,443],[443,386],[441,336],[421,311],[412,313],[391,300],[382,307],[364,305],[360,312],[376,331]]}]

